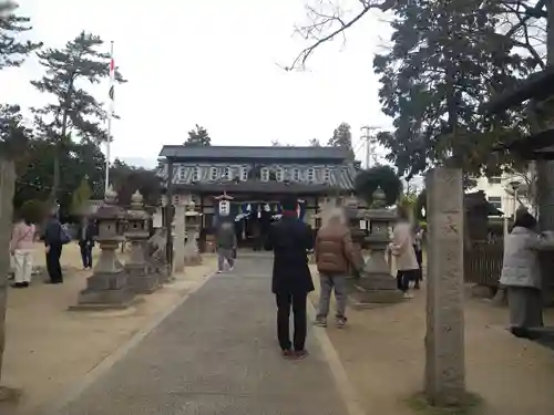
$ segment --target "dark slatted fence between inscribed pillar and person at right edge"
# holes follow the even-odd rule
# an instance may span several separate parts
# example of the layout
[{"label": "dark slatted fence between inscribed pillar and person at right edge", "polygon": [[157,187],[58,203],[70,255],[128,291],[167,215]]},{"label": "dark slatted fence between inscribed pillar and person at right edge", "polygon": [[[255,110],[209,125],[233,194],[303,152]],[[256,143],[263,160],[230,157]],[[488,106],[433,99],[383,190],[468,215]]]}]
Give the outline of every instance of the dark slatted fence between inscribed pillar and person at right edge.
[{"label": "dark slatted fence between inscribed pillar and person at right edge", "polygon": [[485,287],[497,287],[502,272],[504,241],[472,241],[463,252],[464,281]]}]

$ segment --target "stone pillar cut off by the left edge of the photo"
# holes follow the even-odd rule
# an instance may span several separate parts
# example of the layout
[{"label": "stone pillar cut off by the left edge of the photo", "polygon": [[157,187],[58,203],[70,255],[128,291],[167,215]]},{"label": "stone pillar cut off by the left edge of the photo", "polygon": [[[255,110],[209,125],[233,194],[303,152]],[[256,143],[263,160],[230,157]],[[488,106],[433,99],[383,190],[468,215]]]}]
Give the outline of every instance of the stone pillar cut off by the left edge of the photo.
[{"label": "stone pillar cut off by the left edge of the photo", "polygon": [[16,187],[13,163],[0,158],[0,378],[6,345],[6,309],[8,307],[8,269],[10,268],[10,238],[12,200]]}]

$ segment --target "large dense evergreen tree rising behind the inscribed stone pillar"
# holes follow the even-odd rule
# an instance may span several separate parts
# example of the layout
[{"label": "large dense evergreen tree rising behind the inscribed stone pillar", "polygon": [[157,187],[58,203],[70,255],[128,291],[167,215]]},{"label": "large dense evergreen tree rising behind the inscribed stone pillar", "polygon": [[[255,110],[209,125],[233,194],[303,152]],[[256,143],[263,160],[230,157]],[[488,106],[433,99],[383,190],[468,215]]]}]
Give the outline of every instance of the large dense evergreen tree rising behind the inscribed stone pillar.
[{"label": "large dense evergreen tree rising behind the inscribed stone pillar", "polygon": [[389,53],[377,55],[376,73],[382,111],[394,131],[378,141],[389,160],[408,176],[429,165],[452,163],[469,174],[497,170],[510,163],[493,147],[522,134],[514,113],[485,120],[479,106],[538,62],[512,52],[513,43],[496,34],[499,1],[439,0],[399,2],[391,25]]}]

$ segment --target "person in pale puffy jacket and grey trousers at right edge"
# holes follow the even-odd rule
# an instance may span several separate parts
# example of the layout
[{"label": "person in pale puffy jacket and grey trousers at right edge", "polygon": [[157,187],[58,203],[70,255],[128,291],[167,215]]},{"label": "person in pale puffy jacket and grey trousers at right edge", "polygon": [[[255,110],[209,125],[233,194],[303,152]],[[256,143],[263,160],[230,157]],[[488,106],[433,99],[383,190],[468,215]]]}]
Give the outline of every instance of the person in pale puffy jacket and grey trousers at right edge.
[{"label": "person in pale puffy jacket and grey trousers at right edge", "polygon": [[538,251],[554,249],[553,238],[536,231],[536,219],[517,209],[512,232],[504,241],[500,283],[506,288],[512,334],[530,338],[543,326],[543,299]]}]

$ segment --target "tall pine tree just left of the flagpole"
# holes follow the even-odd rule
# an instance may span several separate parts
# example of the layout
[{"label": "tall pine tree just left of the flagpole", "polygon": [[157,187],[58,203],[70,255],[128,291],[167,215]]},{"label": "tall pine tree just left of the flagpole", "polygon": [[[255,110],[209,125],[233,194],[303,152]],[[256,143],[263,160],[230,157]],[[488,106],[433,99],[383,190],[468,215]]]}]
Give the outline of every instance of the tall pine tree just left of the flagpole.
[{"label": "tall pine tree just left of the flagpole", "polygon": [[[53,97],[52,103],[33,108],[39,134],[55,144],[52,199],[57,198],[60,186],[60,153],[68,151],[72,137],[92,143],[107,139],[103,126],[107,113],[84,89],[110,76],[110,54],[101,51],[103,45],[98,35],[81,32],[63,49],[37,53],[47,73],[31,83]],[[115,80],[126,82],[119,71]]]}]

